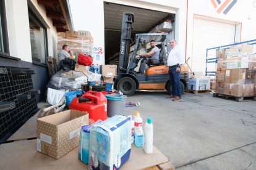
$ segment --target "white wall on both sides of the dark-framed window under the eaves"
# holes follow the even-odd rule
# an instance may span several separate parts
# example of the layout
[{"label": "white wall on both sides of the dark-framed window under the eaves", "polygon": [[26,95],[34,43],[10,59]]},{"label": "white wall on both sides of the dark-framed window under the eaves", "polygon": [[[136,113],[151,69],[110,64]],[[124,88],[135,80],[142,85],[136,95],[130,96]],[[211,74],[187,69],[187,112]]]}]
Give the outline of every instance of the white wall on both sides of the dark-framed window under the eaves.
[{"label": "white wall on both sides of the dark-framed window under the eaves", "polygon": [[[25,62],[32,62],[30,30],[28,20],[29,0],[6,0],[7,31],[9,51],[12,57]],[[48,55],[56,57],[57,32],[50,18],[46,17],[45,8],[32,0],[33,6],[47,24]]]}]

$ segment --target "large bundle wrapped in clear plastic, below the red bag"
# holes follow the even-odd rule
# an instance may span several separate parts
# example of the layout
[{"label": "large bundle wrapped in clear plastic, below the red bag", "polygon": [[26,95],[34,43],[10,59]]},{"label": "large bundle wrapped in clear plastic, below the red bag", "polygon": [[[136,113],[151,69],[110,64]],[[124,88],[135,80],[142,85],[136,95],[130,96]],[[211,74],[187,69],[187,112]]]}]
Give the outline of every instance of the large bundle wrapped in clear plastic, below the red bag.
[{"label": "large bundle wrapped in clear plastic, below the red bag", "polygon": [[58,71],[51,80],[47,87],[52,89],[69,89],[69,91],[75,91],[81,89],[81,84],[87,83],[87,76],[80,71]]}]

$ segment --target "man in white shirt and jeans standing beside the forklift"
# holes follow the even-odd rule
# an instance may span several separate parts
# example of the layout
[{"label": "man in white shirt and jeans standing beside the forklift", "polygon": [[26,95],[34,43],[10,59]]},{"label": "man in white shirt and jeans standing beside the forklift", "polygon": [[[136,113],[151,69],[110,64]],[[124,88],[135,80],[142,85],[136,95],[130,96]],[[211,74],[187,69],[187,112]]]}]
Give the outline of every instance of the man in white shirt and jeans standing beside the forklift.
[{"label": "man in white shirt and jeans standing beside the forklift", "polygon": [[177,46],[175,39],[170,41],[171,51],[168,55],[167,65],[169,67],[168,75],[170,78],[172,94],[168,97],[175,102],[181,101],[181,81],[180,73],[182,67],[182,53],[181,49]]}]

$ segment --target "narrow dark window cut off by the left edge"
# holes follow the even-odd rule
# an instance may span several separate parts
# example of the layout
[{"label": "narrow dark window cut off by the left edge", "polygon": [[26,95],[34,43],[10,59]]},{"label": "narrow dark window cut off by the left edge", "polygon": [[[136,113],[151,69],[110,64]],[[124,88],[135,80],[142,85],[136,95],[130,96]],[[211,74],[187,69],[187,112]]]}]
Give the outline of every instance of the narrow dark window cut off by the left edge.
[{"label": "narrow dark window cut off by the left edge", "polygon": [[0,54],[9,55],[4,1],[0,1]]}]

